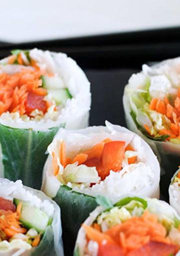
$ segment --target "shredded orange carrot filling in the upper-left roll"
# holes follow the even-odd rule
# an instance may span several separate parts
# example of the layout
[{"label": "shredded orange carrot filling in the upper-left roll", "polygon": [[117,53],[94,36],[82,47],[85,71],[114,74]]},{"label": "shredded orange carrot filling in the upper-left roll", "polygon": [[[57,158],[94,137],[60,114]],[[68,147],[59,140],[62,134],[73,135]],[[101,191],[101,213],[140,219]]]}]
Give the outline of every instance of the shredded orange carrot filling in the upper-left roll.
[{"label": "shredded orange carrot filling in the upper-left roll", "polygon": [[[9,58],[14,59],[14,56]],[[21,54],[17,56],[17,61],[21,63]],[[20,72],[15,74],[0,74],[0,114],[3,112],[16,112],[18,111],[20,115],[27,114],[30,115],[31,111],[35,108],[42,110],[44,104],[46,107],[43,112],[46,112],[50,103],[44,100],[42,96],[47,94],[47,90],[41,87],[42,72],[40,70],[26,70],[21,69]],[[29,101],[29,93],[34,93],[38,98],[34,98],[31,94]],[[33,96],[33,97],[32,97]],[[34,99],[34,103],[32,100]],[[29,108],[30,107],[30,108]],[[28,110],[30,109],[30,111]]]}]

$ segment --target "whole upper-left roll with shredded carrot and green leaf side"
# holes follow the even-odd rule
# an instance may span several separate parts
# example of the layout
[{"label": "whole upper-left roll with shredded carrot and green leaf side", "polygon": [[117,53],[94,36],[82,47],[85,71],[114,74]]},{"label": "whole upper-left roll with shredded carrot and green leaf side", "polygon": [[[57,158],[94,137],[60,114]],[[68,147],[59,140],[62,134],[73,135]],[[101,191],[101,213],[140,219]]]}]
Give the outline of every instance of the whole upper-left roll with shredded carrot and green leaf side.
[{"label": "whole upper-left roll with shredded carrot and green leaf side", "polygon": [[0,61],[0,176],[40,188],[47,146],[59,127],[88,124],[89,82],[62,53],[14,50]]}]

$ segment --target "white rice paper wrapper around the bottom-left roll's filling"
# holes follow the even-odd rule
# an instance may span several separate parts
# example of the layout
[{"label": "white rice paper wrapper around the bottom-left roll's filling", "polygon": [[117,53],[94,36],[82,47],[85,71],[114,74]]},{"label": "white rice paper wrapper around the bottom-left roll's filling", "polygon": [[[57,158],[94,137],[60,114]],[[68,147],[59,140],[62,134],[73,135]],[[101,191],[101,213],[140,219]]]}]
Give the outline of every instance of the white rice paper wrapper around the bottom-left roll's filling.
[{"label": "white rice paper wrapper around the bottom-left roll's filling", "polygon": [[3,252],[0,250],[1,256],[63,256],[60,209],[54,201],[41,191],[23,186],[19,180],[12,182],[7,179],[0,179],[0,197],[30,201],[32,205],[41,208],[53,217],[52,224],[46,228],[38,246],[25,250],[24,248],[15,248],[17,244],[13,243],[11,246],[6,245]]}]

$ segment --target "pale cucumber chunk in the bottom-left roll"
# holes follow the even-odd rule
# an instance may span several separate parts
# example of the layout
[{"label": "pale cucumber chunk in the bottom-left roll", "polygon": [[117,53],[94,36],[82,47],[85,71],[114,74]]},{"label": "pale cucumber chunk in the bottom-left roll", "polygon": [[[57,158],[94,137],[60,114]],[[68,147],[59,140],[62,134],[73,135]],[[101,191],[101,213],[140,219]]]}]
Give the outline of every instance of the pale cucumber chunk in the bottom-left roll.
[{"label": "pale cucumber chunk in the bottom-left roll", "polygon": [[43,233],[45,228],[51,223],[51,218],[41,211],[39,208],[30,205],[29,202],[13,199],[14,204],[17,206],[22,202],[22,209],[20,213],[20,222],[28,229],[34,228],[37,232]]}]

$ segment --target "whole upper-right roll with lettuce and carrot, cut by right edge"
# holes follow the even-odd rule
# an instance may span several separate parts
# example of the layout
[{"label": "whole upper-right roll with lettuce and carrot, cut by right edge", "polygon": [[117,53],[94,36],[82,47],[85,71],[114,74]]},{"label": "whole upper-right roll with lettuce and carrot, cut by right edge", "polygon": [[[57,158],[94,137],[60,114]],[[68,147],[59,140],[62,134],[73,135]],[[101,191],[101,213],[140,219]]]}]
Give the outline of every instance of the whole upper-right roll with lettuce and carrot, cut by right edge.
[{"label": "whole upper-right roll with lettuce and carrot, cut by right edge", "polygon": [[145,139],[161,160],[162,192],[168,192],[180,165],[180,58],[160,62],[133,74],[123,105],[128,128]]}]

